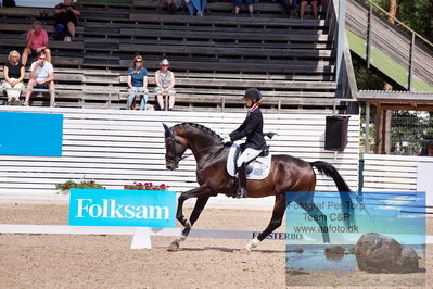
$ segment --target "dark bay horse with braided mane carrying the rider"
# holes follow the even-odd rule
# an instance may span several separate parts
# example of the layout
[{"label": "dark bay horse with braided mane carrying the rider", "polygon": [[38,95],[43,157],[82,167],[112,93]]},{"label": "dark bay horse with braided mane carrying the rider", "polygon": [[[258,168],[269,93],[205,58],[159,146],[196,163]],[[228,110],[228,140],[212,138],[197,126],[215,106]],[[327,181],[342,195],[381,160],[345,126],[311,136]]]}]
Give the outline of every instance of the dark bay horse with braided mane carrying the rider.
[{"label": "dark bay horse with braided mane carrying the rider", "polygon": [[[233,197],[238,187],[234,178],[226,169],[230,147],[222,144],[222,138],[207,127],[195,123],[181,123],[173,127],[163,124],[165,128],[165,160],[168,169],[176,169],[187,149],[192,151],[196,161],[196,181],[200,187],[182,192],[178,198],[176,218],[183,225],[180,239],[173,241],[170,249],[177,249],[198,221],[209,197],[225,193]],[[184,156],[183,156],[184,158]],[[340,192],[343,213],[353,216],[353,203],[347,184],[334,166],[327,162],[305,162],[291,155],[272,155],[269,175],[263,180],[247,180],[249,198],[276,196],[272,217],[267,228],[256,239],[246,244],[246,251],[257,247],[270,233],[281,226],[286,205],[294,201],[298,203],[320,226],[328,227],[323,213],[314,204],[313,197],[316,187],[316,167],[320,173],[330,176]],[[300,192],[300,193],[286,193]],[[189,219],[183,216],[183,202],[196,198],[194,209]],[[310,204],[310,205],[305,205]],[[347,218],[347,225],[353,222]],[[329,242],[328,230],[322,233],[323,242]]]}]

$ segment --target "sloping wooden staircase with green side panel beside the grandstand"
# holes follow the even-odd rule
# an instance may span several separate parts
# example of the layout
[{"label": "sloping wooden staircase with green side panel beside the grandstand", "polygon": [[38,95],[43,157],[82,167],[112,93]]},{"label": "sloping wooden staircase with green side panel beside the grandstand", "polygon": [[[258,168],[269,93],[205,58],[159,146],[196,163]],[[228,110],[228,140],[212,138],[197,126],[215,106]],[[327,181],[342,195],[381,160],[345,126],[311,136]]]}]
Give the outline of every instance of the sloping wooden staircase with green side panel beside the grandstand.
[{"label": "sloping wooden staircase with green side panel beside the grandstand", "polygon": [[409,91],[433,91],[433,45],[396,20],[387,22],[374,3],[347,0],[346,35],[352,52],[367,66]]}]

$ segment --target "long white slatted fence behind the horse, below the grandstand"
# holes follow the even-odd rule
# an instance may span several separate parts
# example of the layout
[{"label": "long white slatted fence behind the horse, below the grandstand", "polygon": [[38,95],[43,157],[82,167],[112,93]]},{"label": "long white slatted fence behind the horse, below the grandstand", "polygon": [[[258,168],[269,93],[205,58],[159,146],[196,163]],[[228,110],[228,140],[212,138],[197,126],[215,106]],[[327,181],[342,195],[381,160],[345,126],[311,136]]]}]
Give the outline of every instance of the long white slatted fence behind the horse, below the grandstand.
[{"label": "long white slatted fence behind the horse, below the grandstand", "polygon": [[[167,171],[164,129],[181,122],[196,122],[220,135],[237,128],[244,113],[157,112],[0,106],[0,111],[61,113],[64,116],[63,156],[0,155],[0,193],[50,196],[55,184],[84,177],[109,189],[133,181],[164,183],[183,191],[196,186],[195,161],[188,158],[177,171]],[[265,131],[279,135],[268,141],[272,154],[292,154],[306,161],[327,161],[336,166],[351,189],[358,186],[359,117],[352,115],[344,152],[324,150],[326,115],[265,114]],[[26,124],[14,125],[16,129]],[[29,140],[31,141],[31,140]],[[187,151],[188,153],[189,151]],[[318,177],[318,190],[335,190],[328,177]]]}]

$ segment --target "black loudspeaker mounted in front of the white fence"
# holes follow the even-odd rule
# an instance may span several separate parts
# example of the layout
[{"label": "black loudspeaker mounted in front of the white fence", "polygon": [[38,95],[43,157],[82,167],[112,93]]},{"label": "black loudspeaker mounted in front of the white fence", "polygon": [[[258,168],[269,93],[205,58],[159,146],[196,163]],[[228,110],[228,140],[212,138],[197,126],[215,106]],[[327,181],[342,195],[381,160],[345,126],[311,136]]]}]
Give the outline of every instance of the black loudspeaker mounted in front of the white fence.
[{"label": "black loudspeaker mounted in front of the white fence", "polygon": [[324,130],[324,149],[344,151],[347,146],[348,117],[344,115],[327,116]]}]

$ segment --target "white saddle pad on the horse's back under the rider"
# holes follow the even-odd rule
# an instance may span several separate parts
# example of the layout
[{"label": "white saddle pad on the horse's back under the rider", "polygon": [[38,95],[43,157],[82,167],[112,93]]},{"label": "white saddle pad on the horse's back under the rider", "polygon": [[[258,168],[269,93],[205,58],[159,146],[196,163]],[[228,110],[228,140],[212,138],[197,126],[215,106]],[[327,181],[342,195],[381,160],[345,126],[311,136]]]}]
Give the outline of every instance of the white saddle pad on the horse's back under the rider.
[{"label": "white saddle pad on the horse's back under the rider", "polygon": [[[244,146],[233,143],[227,158],[227,173],[234,177],[237,176],[237,161],[244,150]],[[269,153],[269,146],[263,152],[246,164],[246,179],[264,179],[269,175],[271,154]]]}]

